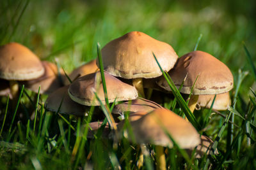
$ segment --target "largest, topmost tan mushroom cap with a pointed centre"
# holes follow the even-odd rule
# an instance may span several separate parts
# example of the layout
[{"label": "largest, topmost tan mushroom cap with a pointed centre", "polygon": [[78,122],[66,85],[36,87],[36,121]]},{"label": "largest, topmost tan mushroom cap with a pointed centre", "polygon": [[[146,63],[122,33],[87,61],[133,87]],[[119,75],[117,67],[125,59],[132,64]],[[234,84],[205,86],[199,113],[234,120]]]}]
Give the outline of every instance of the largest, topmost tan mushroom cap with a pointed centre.
[{"label": "largest, topmost tan mushroom cap with a pointed centre", "polygon": [[172,46],[167,43],[143,32],[129,32],[102,48],[104,70],[113,76],[127,79],[161,76],[162,72],[152,52],[164,71],[172,69],[178,58]]}]

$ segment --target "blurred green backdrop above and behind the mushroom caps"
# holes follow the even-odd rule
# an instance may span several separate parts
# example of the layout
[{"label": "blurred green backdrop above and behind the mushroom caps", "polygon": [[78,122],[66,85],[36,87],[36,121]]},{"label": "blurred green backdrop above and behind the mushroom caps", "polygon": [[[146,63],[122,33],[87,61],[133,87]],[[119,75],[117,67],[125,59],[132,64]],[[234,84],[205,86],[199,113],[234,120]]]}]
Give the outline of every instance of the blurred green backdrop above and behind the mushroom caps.
[{"label": "blurred green backdrop above and behind the mushroom caps", "polygon": [[[97,57],[97,42],[104,46],[129,31],[165,41],[179,56],[192,51],[202,34],[198,50],[211,53],[236,75],[239,68],[250,70],[242,41],[256,63],[255,6],[254,0],[3,0],[0,38],[1,44],[28,46],[42,60],[58,59],[70,72]],[[253,85],[252,75],[244,85]]]}]

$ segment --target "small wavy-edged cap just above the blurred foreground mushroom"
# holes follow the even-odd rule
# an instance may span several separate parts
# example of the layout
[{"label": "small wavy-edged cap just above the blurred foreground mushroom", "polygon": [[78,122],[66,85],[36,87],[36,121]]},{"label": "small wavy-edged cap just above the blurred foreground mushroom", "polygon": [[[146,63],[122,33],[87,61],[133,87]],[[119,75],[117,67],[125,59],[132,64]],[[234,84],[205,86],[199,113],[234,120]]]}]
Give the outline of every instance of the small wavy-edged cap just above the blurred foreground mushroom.
[{"label": "small wavy-edged cap just above the blurred foreground mushroom", "polygon": [[123,114],[125,111],[137,112],[144,111],[150,112],[157,108],[163,108],[161,105],[154,103],[154,101],[149,101],[147,99],[143,99],[138,97],[138,99],[127,101],[125,103],[117,104],[115,108],[113,108],[112,113],[115,114]]}]

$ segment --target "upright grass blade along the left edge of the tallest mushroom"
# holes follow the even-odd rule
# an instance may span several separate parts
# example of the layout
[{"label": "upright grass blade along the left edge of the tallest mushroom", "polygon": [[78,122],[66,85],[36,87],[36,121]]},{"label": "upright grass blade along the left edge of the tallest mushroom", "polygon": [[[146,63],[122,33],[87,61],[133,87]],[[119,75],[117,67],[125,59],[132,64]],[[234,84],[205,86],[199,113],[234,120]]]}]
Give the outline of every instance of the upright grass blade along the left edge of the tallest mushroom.
[{"label": "upright grass blade along the left edge of the tallest mushroom", "polygon": [[106,87],[104,67],[103,67],[102,55],[101,55],[101,50],[100,50],[100,44],[99,43],[97,43],[97,53],[98,53],[98,60],[99,60],[99,66],[100,66],[100,75],[101,75],[102,86],[103,86],[103,90],[104,90],[105,101],[106,101],[106,105],[109,107],[108,92],[107,92],[107,87]]}]

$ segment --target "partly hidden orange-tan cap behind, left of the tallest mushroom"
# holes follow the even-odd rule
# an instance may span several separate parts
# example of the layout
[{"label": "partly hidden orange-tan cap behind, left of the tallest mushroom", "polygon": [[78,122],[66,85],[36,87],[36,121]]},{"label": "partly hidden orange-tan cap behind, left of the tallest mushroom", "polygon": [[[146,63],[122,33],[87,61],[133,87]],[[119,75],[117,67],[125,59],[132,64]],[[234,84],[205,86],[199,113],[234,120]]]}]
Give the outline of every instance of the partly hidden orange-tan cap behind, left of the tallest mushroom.
[{"label": "partly hidden orange-tan cap behind, left of the tallest mushroom", "polygon": [[[86,64],[83,64],[82,66],[74,69],[72,73],[68,75],[71,81],[76,80],[76,78],[79,78],[81,76],[84,76],[86,74],[95,73],[99,69],[96,64],[96,59],[91,60],[90,62],[87,62]],[[65,78],[65,85],[68,85],[70,82],[67,78]]]}]

